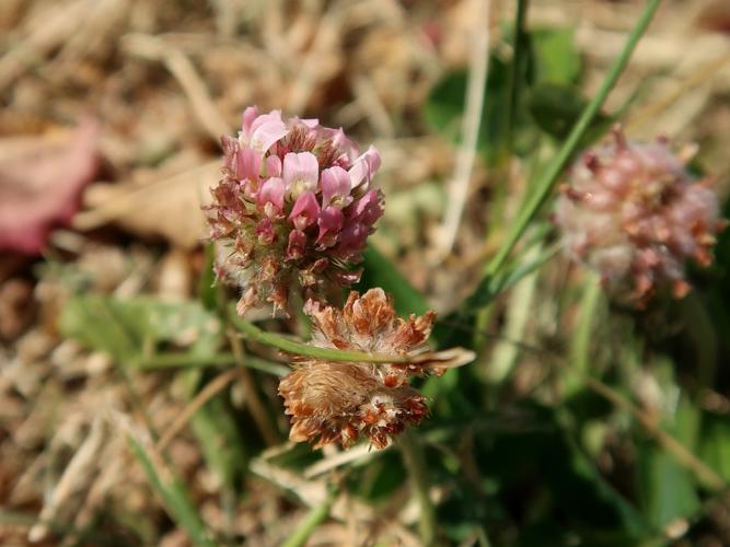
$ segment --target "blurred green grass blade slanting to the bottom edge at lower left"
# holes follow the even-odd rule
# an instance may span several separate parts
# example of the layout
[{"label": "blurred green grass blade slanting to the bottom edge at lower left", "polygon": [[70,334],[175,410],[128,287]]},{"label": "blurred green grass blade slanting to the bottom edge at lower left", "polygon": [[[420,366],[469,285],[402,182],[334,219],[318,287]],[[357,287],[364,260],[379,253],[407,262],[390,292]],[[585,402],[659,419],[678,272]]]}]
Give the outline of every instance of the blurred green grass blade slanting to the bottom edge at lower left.
[{"label": "blurred green grass blade slanting to the bottom edge at lower left", "polygon": [[206,526],[190,503],[184,485],[167,469],[158,469],[154,462],[142,445],[131,437],[127,437],[132,453],[142,465],[150,485],[162,498],[165,510],[175,523],[185,528],[196,546],[215,547],[215,543]]}]

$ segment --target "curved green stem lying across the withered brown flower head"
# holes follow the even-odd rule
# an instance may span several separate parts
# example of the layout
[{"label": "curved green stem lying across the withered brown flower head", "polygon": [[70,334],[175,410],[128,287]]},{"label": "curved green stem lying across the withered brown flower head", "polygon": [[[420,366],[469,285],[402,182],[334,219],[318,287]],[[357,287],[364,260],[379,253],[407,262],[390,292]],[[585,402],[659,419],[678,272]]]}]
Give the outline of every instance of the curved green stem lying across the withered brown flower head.
[{"label": "curved green stem lying across the withered brown flower head", "polygon": [[394,356],[384,353],[370,353],[367,351],[346,351],[339,349],[317,348],[306,344],[297,342],[274,333],[266,333],[255,326],[253,323],[242,319],[235,309],[231,309],[229,314],[231,323],[248,340],[257,341],[273,348],[294,353],[298,356],[314,357],[316,359],[326,359],[328,361],[354,361],[369,363],[408,363],[413,361],[409,356]]}]

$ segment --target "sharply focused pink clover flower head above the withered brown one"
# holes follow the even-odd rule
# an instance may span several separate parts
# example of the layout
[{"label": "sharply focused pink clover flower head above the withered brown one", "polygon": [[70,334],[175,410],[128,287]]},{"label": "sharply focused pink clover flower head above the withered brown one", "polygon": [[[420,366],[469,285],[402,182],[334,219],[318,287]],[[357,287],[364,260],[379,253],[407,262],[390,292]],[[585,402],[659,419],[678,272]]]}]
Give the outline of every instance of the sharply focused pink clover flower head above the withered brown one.
[{"label": "sharply focused pink clover flower head above the withered brown one", "polygon": [[290,288],[313,296],[357,282],[352,266],[383,214],[378,150],[359,154],[341,129],[255,106],[237,139],[221,142],[223,178],[207,211],[217,276],[243,289],[239,313],[266,302],[286,312]]}]

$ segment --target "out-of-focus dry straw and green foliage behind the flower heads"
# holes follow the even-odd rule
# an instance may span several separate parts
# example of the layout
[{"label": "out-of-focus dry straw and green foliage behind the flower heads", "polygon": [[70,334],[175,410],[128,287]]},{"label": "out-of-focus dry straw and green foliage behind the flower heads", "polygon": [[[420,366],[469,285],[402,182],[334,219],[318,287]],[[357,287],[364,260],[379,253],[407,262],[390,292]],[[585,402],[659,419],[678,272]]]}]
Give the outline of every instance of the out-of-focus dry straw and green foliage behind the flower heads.
[{"label": "out-of-focus dry straw and green foliage behind the flower heads", "polygon": [[[520,25],[507,1],[5,0],[0,148],[43,159],[49,135],[91,119],[99,164],[39,256],[3,253],[3,544],[420,545],[428,521],[439,545],[729,545],[730,232],[690,295],[642,311],[556,253],[549,205],[485,277],[642,4],[533,0]],[[696,141],[693,168],[727,196],[729,21],[725,2],[667,0],[581,148],[616,121]],[[476,161],[444,253],[485,33]],[[288,443],[286,357],[232,333],[199,206],[247,104],[383,152],[358,289],[436,309],[433,344],[478,354],[420,382],[422,462]],[[0,154],[0,195],[27,148]],[[49,187],[66,184],[54,165]]]}]

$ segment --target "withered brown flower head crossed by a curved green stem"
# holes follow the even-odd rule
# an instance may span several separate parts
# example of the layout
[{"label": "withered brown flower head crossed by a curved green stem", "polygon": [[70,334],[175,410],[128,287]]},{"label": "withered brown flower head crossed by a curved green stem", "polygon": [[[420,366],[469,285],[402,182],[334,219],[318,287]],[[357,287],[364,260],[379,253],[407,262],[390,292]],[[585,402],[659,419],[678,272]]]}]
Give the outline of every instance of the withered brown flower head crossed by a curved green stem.
[{"label": "withered brown flower head crossed by a curved green stem", "polygon": [[309,301],[304,311],[312,317],[312,346],[408,357],[393,363],[297,357],[294,370],[279,384],[279,395],[292,416],[290,439],[313,442],[314,447],[332,442],[348,447],[360,435],[378,449],[387,446],[406,424],[417,426],[428,414],[425,397],[408,380],[441,375],[473,359],[459,348],[429,351],[425,345],[436,313],[402,319],[382,289],[362,296],[350,292],[343,310]]}]

